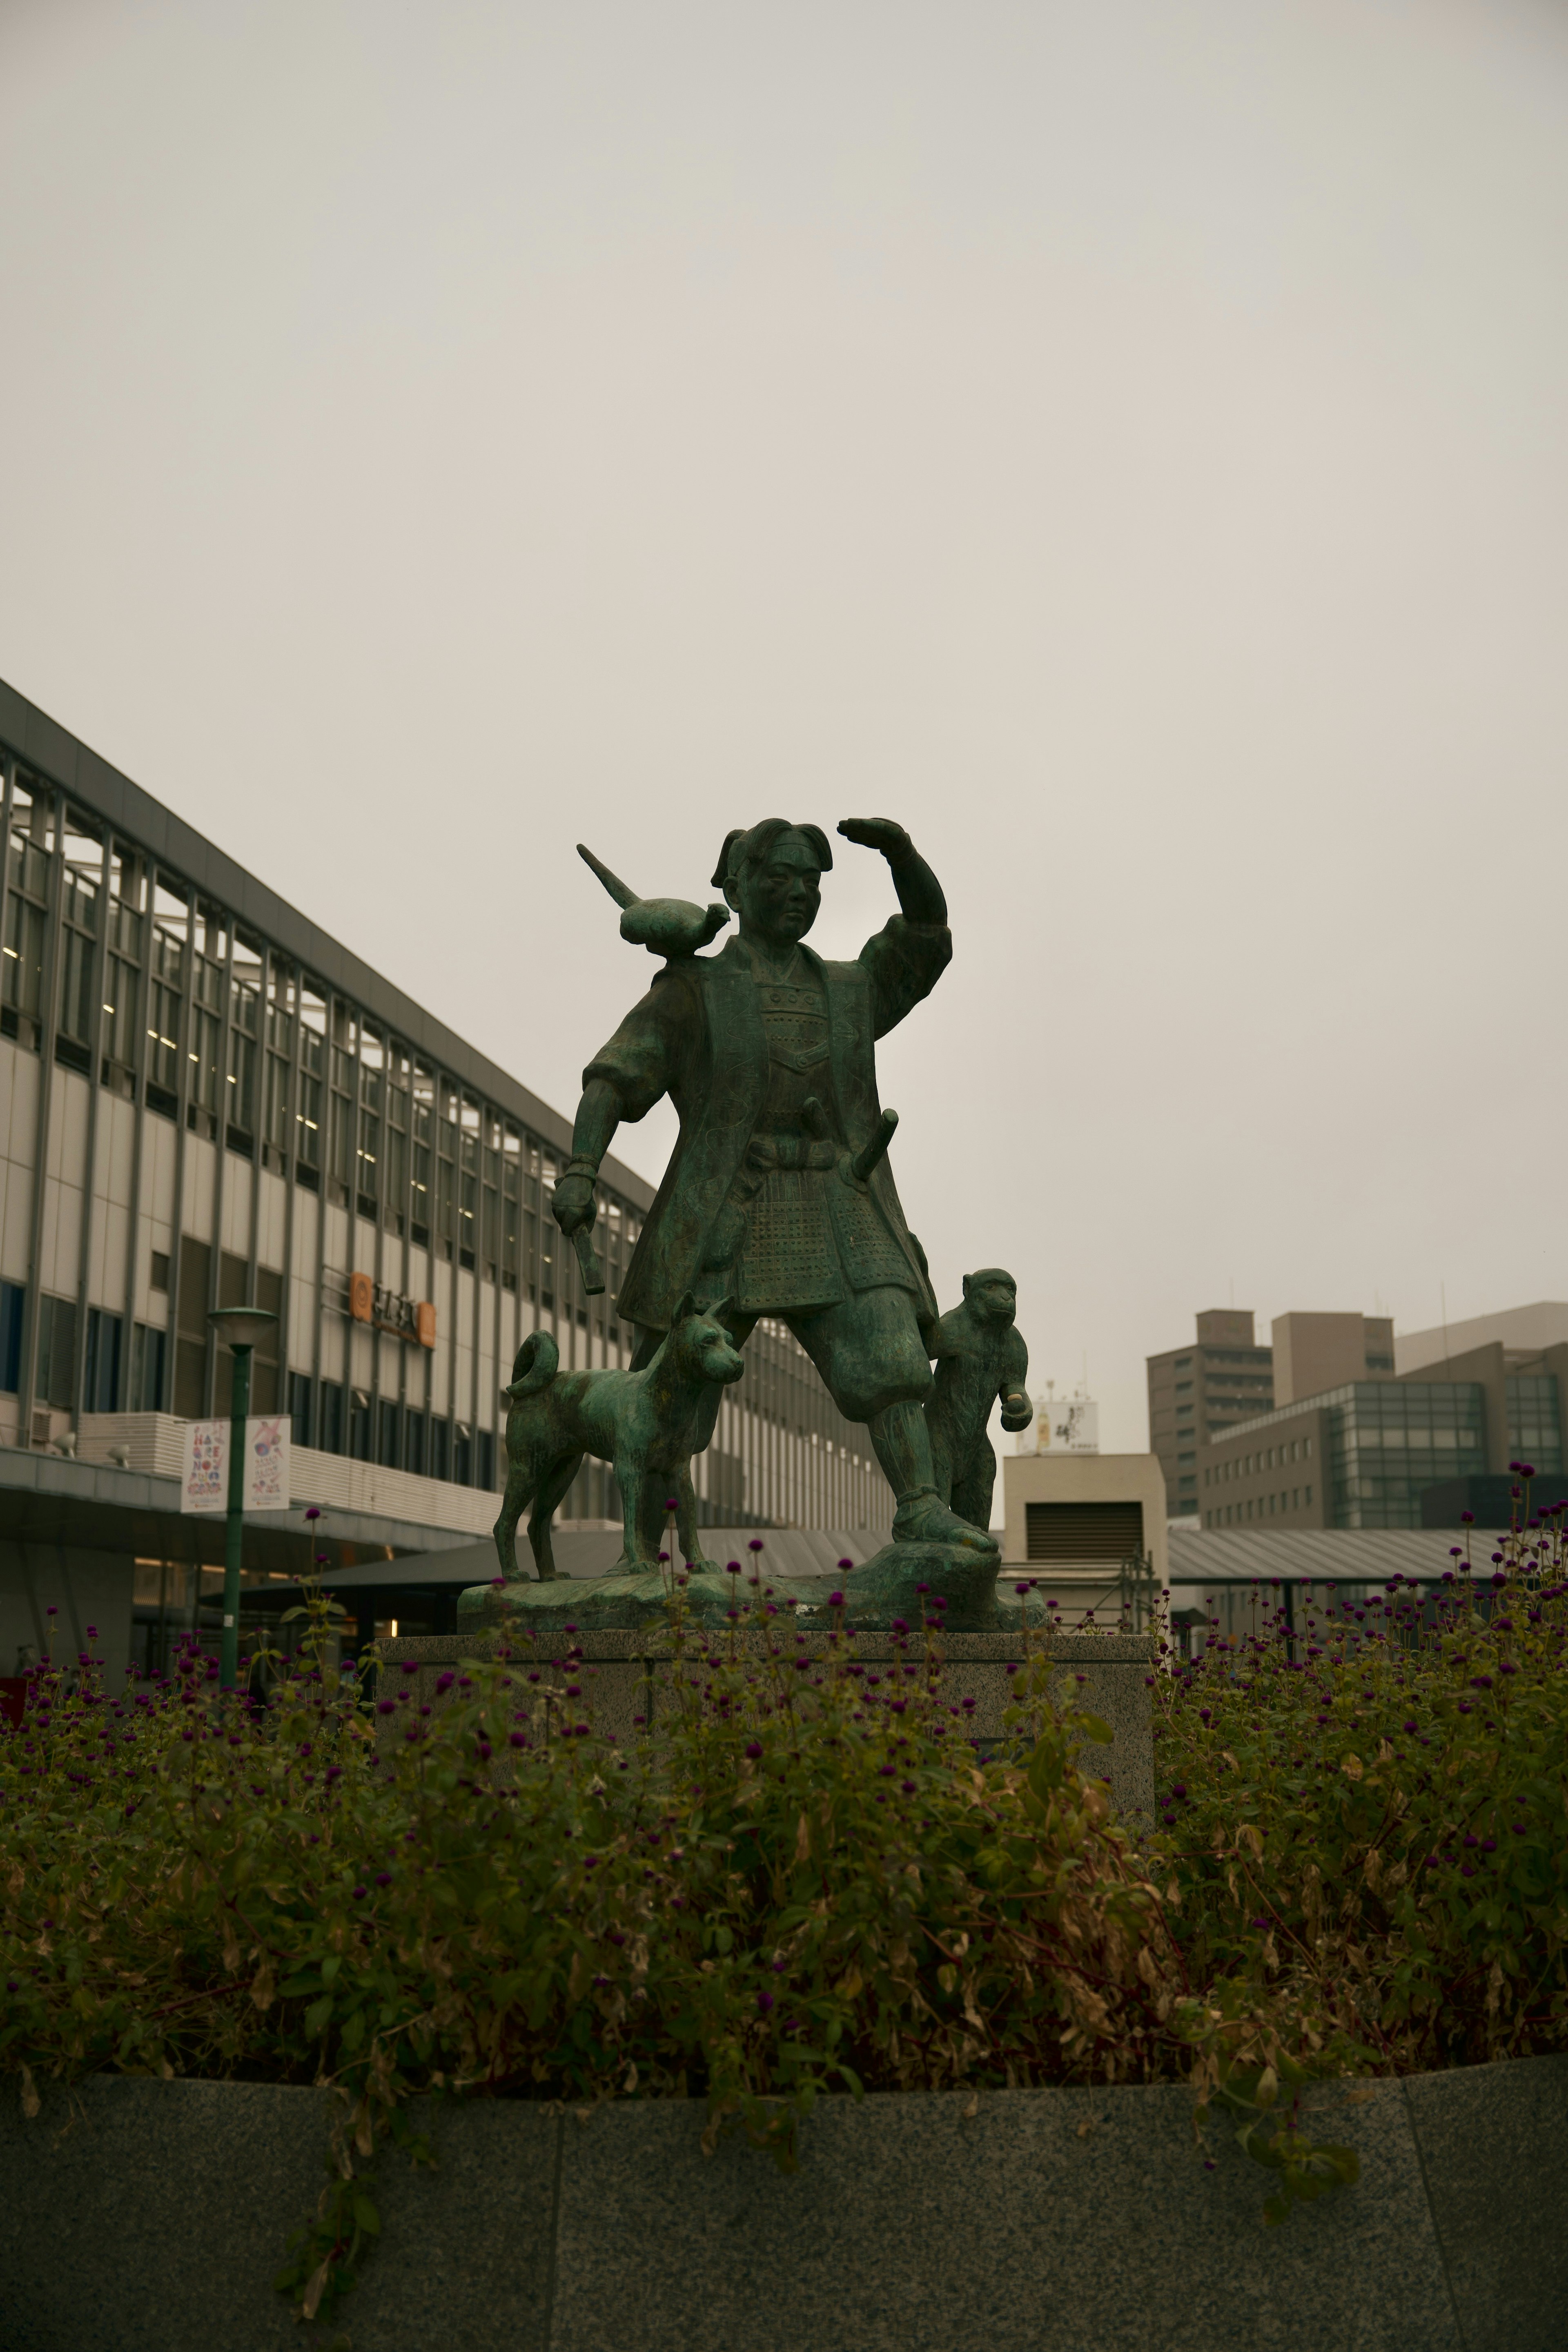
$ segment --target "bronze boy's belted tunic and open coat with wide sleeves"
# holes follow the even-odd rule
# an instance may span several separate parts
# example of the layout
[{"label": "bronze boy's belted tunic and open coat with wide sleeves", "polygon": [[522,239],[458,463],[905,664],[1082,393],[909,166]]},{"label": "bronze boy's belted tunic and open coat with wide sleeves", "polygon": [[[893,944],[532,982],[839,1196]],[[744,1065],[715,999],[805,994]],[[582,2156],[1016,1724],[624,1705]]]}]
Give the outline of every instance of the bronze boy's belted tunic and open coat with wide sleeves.
[{"label": "bronze boy's belted tunic and open coat with wide sleeves", "polygon": [[745,941],[672,962],[583,1084],[616,1089],[623,1120],[668,1094],[679,1141],[616,1301],[665,1331],[682,1291],[743,1315],[804,1315],[872,1287],[936,1315],[919,1244],[886,1160],[865,1185],[842,1169],[877,1131],[875,1040],[940,978],[947,924],[896,915],[853,964],[809,948],[773,974]]}]

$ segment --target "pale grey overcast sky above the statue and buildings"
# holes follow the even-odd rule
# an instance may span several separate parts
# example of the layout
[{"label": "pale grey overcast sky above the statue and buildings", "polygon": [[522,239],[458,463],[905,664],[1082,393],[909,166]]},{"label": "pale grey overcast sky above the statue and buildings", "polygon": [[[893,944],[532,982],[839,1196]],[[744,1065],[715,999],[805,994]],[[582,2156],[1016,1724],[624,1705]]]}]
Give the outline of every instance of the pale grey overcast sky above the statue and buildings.
[{"label": "pale grey overcast sky above the statue and buildings", "polygon": [[571,1110],[574,842],[886,814],[910,1221],[1107,1446],[1204,1305],[1568,1298],[1559,5],[0,0],[0,675],[451,1028]]}]

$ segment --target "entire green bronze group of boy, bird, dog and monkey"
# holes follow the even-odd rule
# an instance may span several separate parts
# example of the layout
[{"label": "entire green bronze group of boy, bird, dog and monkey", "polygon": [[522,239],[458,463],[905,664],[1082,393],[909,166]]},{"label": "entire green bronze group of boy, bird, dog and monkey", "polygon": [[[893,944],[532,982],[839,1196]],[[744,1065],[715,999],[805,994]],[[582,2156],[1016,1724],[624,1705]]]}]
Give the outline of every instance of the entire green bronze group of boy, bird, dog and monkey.
[{"label": "entire green bronze group of boy, bird, dog and monkey", "polygon": [[[665,957],[649,993],[583,1073],[571,1160],[552,1195],[555,1223],[592,1289],[602,1287],[590,1240],[595,1178],[616,1129],[668,1096],[679,1138],[616,1301],[637,1331],[630,1371],[559,1376],[555,1404],[571,1404],[571,1430],[545,1444],[534,1404],[517,1411],[534,1367],[534,1357],[529,1364],[520,1357],[508,1430],[512,1479],[496,1538],[503,1576],[512,1578],[517,1510],[534,1501],[534,1550],[548,1581],[548,1517],[562,1482],[569,1484],[581,1451],[614,1458],[628,1538],[611,1583],[621,1588],[630,1571],[632,1583],[646,1585],[595,1590],[595,1621],[599,1604],[630,1611],[628,1623],[658,1606],[649,1590],[649,1479],[663,1482],[661,1465],[670,1458],[670,1432],[654,1428],[646,1411],[630,1414],[628,1425],[642,1430],[635,1444],[614,1442],[609,1392],[616,1388],[625,1404],[639,1376],[668,1364],[672,1331],[693,1315],[722,1327],[736,1350],[759,1317],[783,1322],[844,1418],[865,1423],[896,1498],[893,1543],[856,1573],[867,1602],[875,1592],[882,1604],[884,1588],[903,1595],[919,1569],[952,1585],[969,1623],[987,1621],[994,1609],[997,1545],[987,1522],[997,1461],[985,1423],[994,1397],[1004,1399],[1006,1428],[1030,1418],[1013,1282],[999,1270],[969,1275],[964,1305],[938,1317],[926,1256],[889,1167],[898,1115],[877,1094],[877,1040],[931,993],[952,960],[947,903],[903,826],[846,818],[839,833],[886,858],[898,894],[898,913],[853,962],[825,962],[804,946],[820,880],[832,870],[827,835],[816,826],[769,818],[731,833],[712,877],[724,908],[637,898],[581,851],[623,908],[623,938]],[[736,936],[701,955],[726,908],[738,917]],[[661,1392],[656,1383],[649,1402]],[[691,1597],[701,1602],[712,1564],[696,1541],[689,1456],[708,1446],[719,1397],[722,1378],[710,1378],[696,1402],[682,1402],[686,1451],[670,1477],[682,1550],[698,1571]],[[538,1470],[524,1468],[522,1456],[531,1461],[541,1446],[555,1446],[550,1465],[541,1458]]]}]

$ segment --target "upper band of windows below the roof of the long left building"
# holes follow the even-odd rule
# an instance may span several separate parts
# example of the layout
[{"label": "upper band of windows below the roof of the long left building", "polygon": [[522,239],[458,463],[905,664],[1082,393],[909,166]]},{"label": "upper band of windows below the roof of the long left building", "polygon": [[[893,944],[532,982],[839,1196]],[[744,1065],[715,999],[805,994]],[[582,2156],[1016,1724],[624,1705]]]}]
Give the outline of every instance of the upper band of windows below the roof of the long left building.
[{"label": "upper band of windows below the roof of the long left building", "polygon": [[[550,1145],[421,1061],[395,1035],[299,971],[176,875],[106,842],[28,769],[12,781],[0,1007],[42,1018],[49,875],[61,870],[56,1058],[89,1070],[101,946],[101,1080],[143,1084],[148,1110],[261,1155],[310,1190],[327,1185],[416,1247],[482,1265],[555,1305],[557,1176]],[[38,1042],[33,1037],[33,1042]],[[146,1044],[146,1051],[141,1051]],[[637,1218],[607,1204],[611,1272]]]}]

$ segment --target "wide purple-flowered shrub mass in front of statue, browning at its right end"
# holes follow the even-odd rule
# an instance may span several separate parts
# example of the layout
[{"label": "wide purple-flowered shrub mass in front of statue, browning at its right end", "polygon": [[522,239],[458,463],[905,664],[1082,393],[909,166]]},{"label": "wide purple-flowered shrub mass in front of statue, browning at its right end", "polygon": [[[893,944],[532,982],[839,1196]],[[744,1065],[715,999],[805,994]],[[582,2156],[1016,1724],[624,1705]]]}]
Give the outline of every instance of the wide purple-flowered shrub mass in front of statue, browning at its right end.
[{"label": "wide purple-flowered shrub mass in front of statue, browning at its right end", "polygon": [[[1077,1771],[1093,1717],[1025,1642],[985,1762],[936,1621],[893,1665],[802,1668],[686,1623],[670,1729],[595,1729],[581,1651],[470,1665],[421,1705],[327,1670],[329,1609],[266,1712],[186,1649],[115,1698],[38,1672],[0,1740],[0,2063],[327,2084],[331,2178],[284,2279],[327,2310],[378,2227],[367,2159],[418,2091],[689,2096],[792,2161],[823,2091],[1190,2079],[1293,2194],[1347,2173],[1272,2114],[1342,2053],[1267,1980],[1199,1983],[1175,1884]],[[1161,1872],[1164,1875],[1164,1872]],[[1281,2110],[1284,2112],[1284,2110]],[[418,2143],[414,2143],[418,2154]]]}]

